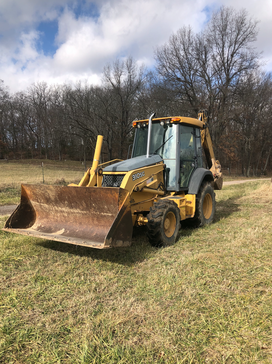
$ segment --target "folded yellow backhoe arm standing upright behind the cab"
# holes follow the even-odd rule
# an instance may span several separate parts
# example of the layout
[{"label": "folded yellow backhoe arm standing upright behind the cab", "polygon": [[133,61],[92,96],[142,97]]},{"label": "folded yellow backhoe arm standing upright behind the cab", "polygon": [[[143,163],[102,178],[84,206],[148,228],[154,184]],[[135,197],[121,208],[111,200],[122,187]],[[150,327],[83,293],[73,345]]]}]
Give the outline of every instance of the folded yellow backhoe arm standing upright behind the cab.
[{"label": "folded yellow backhoe arm standing upright behind the cab", "polygon": [[209,116],[207,110],[198,111],[198,120],[201,120],[205,125],[201,131],[201,144],[205,152],[206,161],[209,170],[213,174],[214,178],[214,190],[221,190],[223,184],[223,177],[221,172],[221,165],[218,160],[216,160],[213,152],[213,143],[209,131]]}]

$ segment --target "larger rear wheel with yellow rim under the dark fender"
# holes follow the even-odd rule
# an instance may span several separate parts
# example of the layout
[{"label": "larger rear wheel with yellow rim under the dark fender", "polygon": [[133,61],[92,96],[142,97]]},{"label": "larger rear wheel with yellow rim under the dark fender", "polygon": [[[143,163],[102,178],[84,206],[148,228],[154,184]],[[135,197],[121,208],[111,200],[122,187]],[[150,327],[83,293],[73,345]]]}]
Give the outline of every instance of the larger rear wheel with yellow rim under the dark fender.
[{"label": "larger rear wheel with yellow rim under the dark fender", "polygon": [[198,227],[211,223],[215,214],[215,193],[210,182],[202,181],[196,195],[196,212],[190,219]]}]

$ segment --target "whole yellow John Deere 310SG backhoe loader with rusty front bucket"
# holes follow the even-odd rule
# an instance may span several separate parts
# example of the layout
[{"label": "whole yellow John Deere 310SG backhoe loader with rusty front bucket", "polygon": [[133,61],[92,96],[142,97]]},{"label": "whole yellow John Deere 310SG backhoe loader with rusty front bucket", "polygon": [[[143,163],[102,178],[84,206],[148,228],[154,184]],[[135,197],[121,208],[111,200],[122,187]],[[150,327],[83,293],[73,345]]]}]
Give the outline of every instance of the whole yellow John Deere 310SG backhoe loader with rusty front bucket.
[{"label": "whole yellow John Deere 310SG backhoe loader with rusty front bucket", "polygon": [[206,110],[197,119],[154,116],[133,121],[130,159],[99,165],[98,135],[92,167],[78,185],[21,185],[20,205],[3,230],[102,249],[130,245],[133,226],[145,225],[151,245],[162,247],[177,240],[182,220],[210,223],[222,173]]}]

